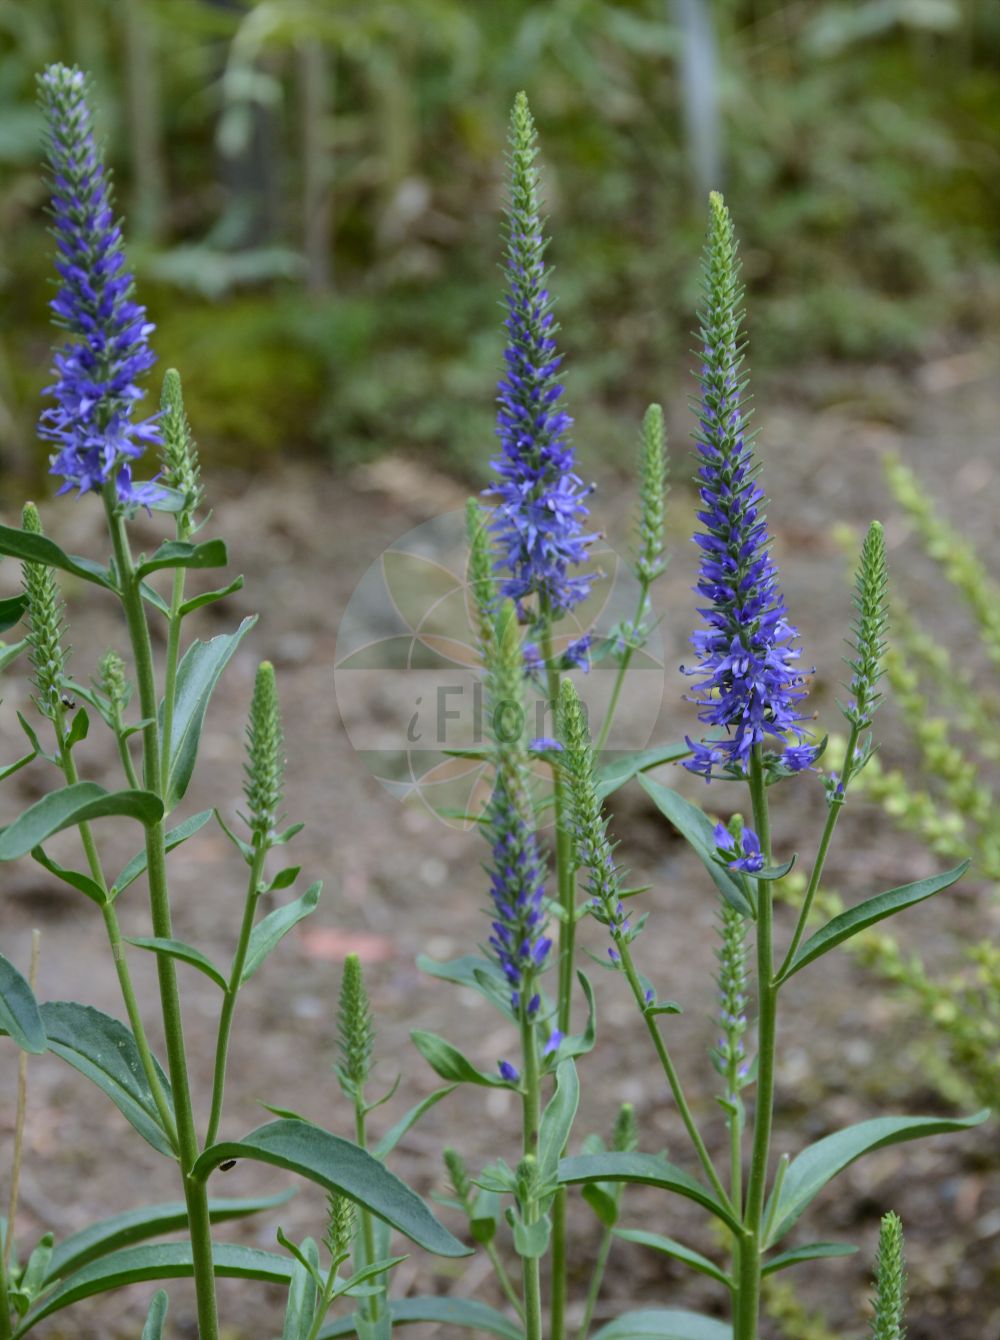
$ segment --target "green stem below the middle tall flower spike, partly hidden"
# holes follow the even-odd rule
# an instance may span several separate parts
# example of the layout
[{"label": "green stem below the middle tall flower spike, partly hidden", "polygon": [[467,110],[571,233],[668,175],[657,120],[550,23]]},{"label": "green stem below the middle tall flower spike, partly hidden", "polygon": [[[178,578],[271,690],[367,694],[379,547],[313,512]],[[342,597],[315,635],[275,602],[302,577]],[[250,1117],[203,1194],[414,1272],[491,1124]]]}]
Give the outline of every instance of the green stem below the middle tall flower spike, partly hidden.
[{"label": "green stem below the middle tall flower spike, partly hidden", "polygon": [[[546,662],[548,702],[552,722],[559,712],[559,669],[552,650],[551,619],[544,612],[544,632],[542,635],[542,655]],[[566,784],[560,769],[552,769],[552,800],[555,812],[555,868],[559,890],[559,1032],[570,1032],[572,1006],[572,972],[576,951],[576,871],[572,863],[572,835],[566,824]],[[566,1335],[566,1209],[567,1190],[560,1186],[552,1201],[552,1253],[551,1253],[551,1315],[550,1340],[563,1340]]]}]

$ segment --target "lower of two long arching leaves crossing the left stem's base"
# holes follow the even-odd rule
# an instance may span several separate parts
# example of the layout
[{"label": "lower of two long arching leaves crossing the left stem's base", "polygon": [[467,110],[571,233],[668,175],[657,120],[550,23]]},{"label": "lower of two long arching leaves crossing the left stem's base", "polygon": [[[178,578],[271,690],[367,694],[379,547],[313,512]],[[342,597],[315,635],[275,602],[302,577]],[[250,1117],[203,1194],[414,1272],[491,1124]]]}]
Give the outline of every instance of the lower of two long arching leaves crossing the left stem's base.
[{"label": "lower of two long arching leaves crossing the left stem's base", "polygon": [[[216,1242],[212,1256],[216,1274],[223,1278],[264,1280],[268,1284],[287,1286],[292,1277],[291,1262],[275,1252]],[[109,1289],[121,1289],[126,1284],[139,1284],[143,1280],[188,1280],[193,1274],[190,1242],[155,1242],[151,1246],[113,1252],[63,1280],[55,1293],[50,1293],[42,1305],[21,1321],[13,1332],[15,1340],[20,1340],[44,1317],[72,1306],[80,1298],[90,1298]]]}]

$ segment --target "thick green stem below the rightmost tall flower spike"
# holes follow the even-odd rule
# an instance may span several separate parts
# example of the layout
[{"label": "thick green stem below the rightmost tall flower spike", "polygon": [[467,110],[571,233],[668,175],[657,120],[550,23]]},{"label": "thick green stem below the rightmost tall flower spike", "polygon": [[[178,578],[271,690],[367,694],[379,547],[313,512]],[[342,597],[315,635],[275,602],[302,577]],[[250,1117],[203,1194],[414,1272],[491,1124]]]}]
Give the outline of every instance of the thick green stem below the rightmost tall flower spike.
[{"label": "thick green stem below the rightmost tall flower spike", "polygon": [[[761,746],[755,745],[749,760],[749,789],[753,828],[760,839],[764,864],[771,864],[771,821]],[[760,1312],[760,1257],[763,1250],[761,1214],[771,1154],[771,1123],[775,1104],[775,1033],[777,1025],[777,988],[773,982],[772,892],[771,882],[757,880],[757,1103],[753,1114],[753,1151],[751,1155],[747,1209],[743,1217],[744,1240],[739,1261],[739,1328],[736,1340],[756,1340]],[[733,1264],[736,1265],[737,1261]]]}]

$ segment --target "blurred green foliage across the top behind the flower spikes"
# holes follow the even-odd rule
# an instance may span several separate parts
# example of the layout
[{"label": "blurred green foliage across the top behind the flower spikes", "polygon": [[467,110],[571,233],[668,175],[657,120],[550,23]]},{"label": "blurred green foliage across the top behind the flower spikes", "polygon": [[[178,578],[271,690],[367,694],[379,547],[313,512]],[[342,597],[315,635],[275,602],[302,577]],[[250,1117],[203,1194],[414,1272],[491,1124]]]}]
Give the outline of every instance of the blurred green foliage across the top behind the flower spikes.
[{"label": "blurred green foliage across the top behind the flower spikes", "polygon": [[692,146],[716,114],[759,367],[918,355],[989,320],[999,40],[992,0],[0,0],[4,456],[39,461],[48,60],[94,76],[142,297],[206,449],[432,448],[476,474],[519,87],[586,438],[686,359]]}]

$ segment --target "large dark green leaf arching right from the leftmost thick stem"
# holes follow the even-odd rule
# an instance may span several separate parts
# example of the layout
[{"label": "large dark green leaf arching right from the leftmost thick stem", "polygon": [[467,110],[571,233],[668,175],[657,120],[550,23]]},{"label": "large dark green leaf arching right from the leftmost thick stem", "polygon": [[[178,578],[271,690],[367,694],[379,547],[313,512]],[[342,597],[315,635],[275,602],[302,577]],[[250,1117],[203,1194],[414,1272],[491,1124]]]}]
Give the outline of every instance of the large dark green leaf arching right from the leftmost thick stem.
[{"label": "large dark green leaf arching right from the leftmost thick stem", "polygon": [[308,1178],[346,1195],[391,1223],[418,1246],[438,1256],[469,1256],[469,1249],[438,1223],[424,1201],[366,1150],[308,1122],[271,1122],[241,1140],[205,1150],[192,1168],[204,1181],[227,1159],[256,1159]]}]

